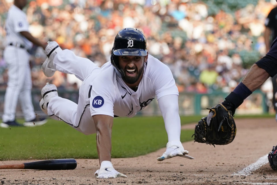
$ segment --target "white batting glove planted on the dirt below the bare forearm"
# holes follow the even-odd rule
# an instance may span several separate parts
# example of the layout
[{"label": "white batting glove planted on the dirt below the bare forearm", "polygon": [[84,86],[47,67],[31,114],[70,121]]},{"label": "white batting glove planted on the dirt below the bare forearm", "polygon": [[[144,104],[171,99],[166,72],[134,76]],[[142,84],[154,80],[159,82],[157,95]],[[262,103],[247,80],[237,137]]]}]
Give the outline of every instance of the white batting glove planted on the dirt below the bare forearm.
[{"label": "white batting glove planted on the dirt below the bare forearm", "polygon": [[98,179],[108,179],[117,177],[127,177],[123,173],[119,173],[113,168],[113,164],[110,161],[102,161],[100,169],[96,170],[94,173]]}]

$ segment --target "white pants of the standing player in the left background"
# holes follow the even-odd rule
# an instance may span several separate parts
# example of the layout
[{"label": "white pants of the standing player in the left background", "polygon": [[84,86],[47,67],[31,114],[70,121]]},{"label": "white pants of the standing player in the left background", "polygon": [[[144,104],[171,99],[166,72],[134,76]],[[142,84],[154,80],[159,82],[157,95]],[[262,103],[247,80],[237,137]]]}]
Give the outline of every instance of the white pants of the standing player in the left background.
[{"label": "white pants of the standing player in the left background", "polygon": [[8,64],[8,86],[5,92],[3,122],[14,121],[19,99],[25,121],[35,119],[32,103],[30,55],[26,49],[7,46],[4,60]]}]

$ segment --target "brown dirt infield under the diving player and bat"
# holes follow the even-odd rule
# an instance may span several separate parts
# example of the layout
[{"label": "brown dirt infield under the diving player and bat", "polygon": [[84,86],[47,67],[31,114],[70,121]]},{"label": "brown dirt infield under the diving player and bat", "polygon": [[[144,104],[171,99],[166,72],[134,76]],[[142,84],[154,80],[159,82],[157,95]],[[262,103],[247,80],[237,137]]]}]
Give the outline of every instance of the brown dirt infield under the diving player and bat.
[{"label": "brown dirt infield under the diving player and bat", "polygon": [[[99,168],[98,160],[77,159],[75,170],[0,170],[1,184],[277,184],[277,172],[268,163],[254,171],[249,166],[261,157],[264,160],[277,144],[275,119],[235,121],[237,136],[229,145],[214,148],[193,141],[183,143],[194,160],[175,157],[159,162],[156,158],[164,148],[146,156],[112,159],[115,169],[128,178],[96,179],[93,174]],[[188,128],[194,124],[183,126]],[[29,161],[0,163],[18,162]]]}]

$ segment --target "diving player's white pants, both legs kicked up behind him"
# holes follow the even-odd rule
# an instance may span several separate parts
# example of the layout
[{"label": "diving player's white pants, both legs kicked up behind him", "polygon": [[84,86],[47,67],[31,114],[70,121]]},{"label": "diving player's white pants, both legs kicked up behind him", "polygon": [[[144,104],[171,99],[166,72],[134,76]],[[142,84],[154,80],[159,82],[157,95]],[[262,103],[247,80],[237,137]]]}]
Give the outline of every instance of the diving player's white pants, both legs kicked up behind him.
[{"label": "diving player's white pants, both legs kicked up behind him", "polygon": [[53,66],[57,71],[74,74],[83,83],[79,89],[78,104],[58,96],[53,97],[47,107],[48,115],[68,123],[83,134],[96,133],[89,108],[89,83],[98,75],[100,68],[91,60],[78,57],[68,49],[57,53]]}]

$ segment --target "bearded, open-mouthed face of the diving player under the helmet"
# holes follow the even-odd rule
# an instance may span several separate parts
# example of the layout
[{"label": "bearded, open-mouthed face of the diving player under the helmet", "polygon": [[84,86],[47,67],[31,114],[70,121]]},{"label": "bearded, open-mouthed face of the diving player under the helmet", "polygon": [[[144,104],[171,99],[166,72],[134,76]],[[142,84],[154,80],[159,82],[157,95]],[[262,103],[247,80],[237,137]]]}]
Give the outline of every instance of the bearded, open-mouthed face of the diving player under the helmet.
[{"label": "bearded, open-mouthed face of the diving player under the helmet", "polygon": [[119,67],[123,69],[125,76],[122,79],[128,84],[134,84],[143,74],[144,62],[147,56],[119,56]]}]

